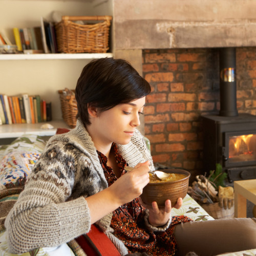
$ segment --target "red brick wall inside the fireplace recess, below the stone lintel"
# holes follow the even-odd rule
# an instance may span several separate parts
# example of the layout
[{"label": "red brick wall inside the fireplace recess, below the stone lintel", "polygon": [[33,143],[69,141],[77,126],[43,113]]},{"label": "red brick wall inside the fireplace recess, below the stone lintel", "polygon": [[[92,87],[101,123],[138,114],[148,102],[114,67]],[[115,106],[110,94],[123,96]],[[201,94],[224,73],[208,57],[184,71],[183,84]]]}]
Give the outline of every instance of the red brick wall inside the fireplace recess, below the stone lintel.
[{"label": "red brick wall inside the fireplace recess, below the stone lintel", "polygon": [[[218,49],[143,51],[145,136],[155,162],[204,174],[201,115],[219,114]],[[256,115],[256,48],[237,48],[237,106]]]}]

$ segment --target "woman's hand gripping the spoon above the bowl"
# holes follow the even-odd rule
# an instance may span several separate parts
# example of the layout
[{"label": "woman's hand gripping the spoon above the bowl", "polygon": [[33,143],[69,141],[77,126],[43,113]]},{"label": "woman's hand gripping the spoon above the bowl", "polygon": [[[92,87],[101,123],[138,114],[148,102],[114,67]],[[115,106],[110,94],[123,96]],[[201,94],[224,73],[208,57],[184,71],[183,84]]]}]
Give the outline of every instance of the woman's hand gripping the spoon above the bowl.
[{"label": "woman's hand gripping the spoon above the bowl", "polygon": [[149,170],[149,161],[139,163],[109,187],[119,200],[120,205],[129,203],[142,194],[143,187],[150,182]]}]

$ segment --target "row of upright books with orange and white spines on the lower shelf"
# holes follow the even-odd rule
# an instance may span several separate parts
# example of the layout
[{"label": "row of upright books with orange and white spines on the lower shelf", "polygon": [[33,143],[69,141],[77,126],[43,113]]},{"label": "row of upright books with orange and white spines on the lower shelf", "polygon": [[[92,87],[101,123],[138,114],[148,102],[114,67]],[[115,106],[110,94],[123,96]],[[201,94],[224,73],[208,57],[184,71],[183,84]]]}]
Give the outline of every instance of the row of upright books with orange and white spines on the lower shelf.
[{"label": "row of upright books with orange and white spines on the lower shelf", "polygon": [[38,123],[52,120],[51,102],[39,95],[0,94],[0,124]]}]

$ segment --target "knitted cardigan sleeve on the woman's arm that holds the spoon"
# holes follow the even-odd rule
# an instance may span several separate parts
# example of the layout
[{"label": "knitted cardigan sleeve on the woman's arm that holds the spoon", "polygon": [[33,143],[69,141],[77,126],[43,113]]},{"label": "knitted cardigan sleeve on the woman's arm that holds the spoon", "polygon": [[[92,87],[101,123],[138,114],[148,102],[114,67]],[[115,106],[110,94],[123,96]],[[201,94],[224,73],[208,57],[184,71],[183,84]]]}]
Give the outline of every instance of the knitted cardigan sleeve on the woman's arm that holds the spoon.
[{"label": "knitted cardigan sleeve on the woman's arm that holds the spoon", "polygon": [[9,212],[5,226],[12,253],[57,246],[90,230],[84,197],[66,201],[77,171],[77,159],[68,146],[61,142],[48,145]]}]

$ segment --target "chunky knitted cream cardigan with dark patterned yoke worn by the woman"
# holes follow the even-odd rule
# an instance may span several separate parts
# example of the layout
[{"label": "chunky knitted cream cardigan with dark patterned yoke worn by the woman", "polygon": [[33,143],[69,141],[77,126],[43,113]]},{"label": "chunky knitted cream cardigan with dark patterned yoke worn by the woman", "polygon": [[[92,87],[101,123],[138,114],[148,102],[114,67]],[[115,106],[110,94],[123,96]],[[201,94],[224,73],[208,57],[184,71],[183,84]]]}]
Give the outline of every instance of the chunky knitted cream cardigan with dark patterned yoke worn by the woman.
[{"label": "chunky knitted cream cardigan with dark patterned yoke worn by the woman", "polygon": [[[129,166],[150,160],[143,136],[136,131],[129,144],[118,145]],[[24,191],[6,218],[8,245],[12,253],[23,253],[38,247],[52,247],[71,241],[90,230],[90,210],[84,199],[106,188],[98,154],[91,137],[78,119],[76,128],[55,135],[47,143],[35,164]],[[151,230],[162,228],[145,225]],[[110,228],[112,214],[97,222],[115,244],[121,255],[126,247]]]}]

